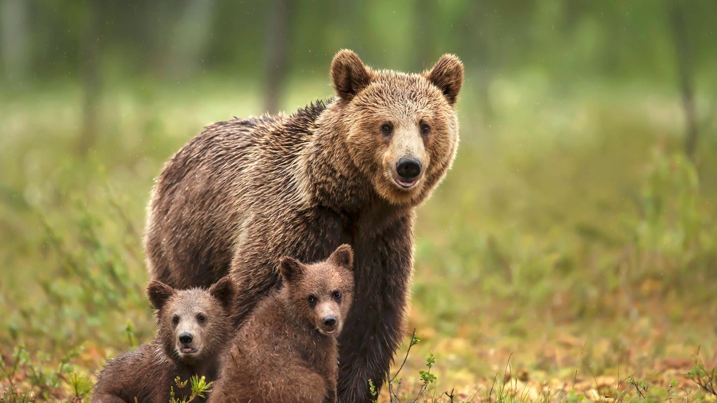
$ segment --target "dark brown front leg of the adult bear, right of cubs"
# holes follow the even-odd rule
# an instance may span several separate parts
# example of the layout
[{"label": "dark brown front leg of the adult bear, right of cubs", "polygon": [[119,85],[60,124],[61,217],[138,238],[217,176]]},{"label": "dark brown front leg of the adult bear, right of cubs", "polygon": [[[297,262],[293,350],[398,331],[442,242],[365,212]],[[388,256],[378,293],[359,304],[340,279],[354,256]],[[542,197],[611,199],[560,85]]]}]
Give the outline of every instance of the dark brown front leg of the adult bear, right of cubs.
[{"label": "dark brown front leg of the adult bear, right of cubs", "polygon": [[369,379],[381,389],[404,336],[412,217],[400,217],[380,234],[361,234],[353,250],[356,293],[339,336],[338,402],[370,402]]}]

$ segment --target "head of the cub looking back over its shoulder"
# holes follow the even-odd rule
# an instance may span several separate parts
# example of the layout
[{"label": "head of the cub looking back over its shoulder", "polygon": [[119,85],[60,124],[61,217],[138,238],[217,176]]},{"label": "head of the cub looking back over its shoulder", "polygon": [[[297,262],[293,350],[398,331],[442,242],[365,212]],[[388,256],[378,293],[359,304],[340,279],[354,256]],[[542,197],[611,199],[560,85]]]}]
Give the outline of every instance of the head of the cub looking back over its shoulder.
[{"label": "head of the cub looking back over its shoulder", "polygon": [[282,257],[282,298],[298,321],[326,336],[338,336],[353,301],[353,251],[338,247],[327,260],[305,265]]}]

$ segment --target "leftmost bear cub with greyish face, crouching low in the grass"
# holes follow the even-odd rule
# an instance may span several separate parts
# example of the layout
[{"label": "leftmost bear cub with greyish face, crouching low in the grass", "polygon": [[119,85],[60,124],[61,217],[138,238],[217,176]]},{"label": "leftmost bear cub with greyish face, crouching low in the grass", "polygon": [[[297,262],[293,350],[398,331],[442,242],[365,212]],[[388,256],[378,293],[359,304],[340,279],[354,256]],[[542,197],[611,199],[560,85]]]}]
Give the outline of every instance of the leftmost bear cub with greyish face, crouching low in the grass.
[{"label": "leftmost bear cub with greyish face, crouching low in the grass", "polygon": [[214,381],[219,355],[233,336],[229,312],[234,292],[228,276],[209,290],[175,290],[156,280],[149,282],[157,336],[105,365],[92,402],[168,402],[171,387],[179,399],[191,392],[189,387],[178,390],[176,376],[184,381],[196,374]]}]

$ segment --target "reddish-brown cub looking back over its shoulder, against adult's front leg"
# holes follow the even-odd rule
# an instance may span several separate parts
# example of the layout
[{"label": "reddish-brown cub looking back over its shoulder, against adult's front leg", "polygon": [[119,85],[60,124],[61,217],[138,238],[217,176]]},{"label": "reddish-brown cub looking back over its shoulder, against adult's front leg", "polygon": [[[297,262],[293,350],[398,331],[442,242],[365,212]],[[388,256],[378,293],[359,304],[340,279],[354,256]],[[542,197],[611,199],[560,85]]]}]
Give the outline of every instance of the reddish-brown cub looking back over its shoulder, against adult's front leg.
[{"label": "reddish-brown cub looking back over its shoulder, against adult's front leg", "polygon": [[282,257],[281,290],[250,313],[211,402],[336,402],[338,346],[353,300],[353,251],[305,265]]}]

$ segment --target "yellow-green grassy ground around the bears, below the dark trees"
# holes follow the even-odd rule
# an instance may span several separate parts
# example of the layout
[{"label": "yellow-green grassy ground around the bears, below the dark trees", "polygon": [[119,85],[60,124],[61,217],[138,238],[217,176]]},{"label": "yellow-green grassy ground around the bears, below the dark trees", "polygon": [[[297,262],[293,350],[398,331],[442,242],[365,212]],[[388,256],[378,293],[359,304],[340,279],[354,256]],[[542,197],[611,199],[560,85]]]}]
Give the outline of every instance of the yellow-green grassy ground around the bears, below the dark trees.
[{"label": "yellow-green grassy ground around the bears, below the dark trees", "polygon": [[[716,99],[698,94],[692,163],[669,91],[551,88],[502,77],[481,103],[467,80],[457,160],[419,207],[421,341],[402,365],[407,335],[379,401],[713,399]],[[5,400],[87,400],[105,359],[153,337],[141,247],[153,177],[202,125],[260,113],[240,82],[105,90],[87,156],[77,87],[0,98]],[[329,91],[293,85],[286,107]]]}]

